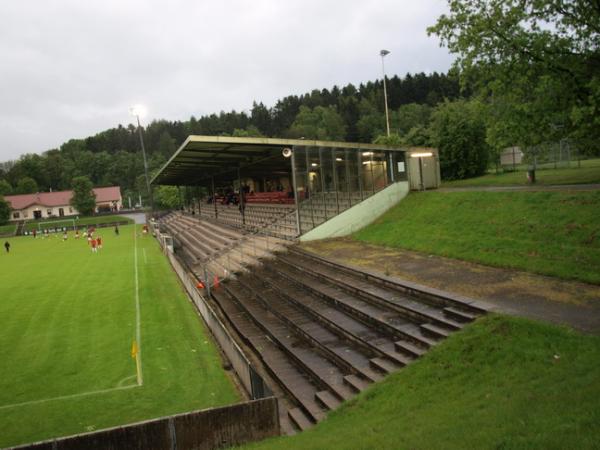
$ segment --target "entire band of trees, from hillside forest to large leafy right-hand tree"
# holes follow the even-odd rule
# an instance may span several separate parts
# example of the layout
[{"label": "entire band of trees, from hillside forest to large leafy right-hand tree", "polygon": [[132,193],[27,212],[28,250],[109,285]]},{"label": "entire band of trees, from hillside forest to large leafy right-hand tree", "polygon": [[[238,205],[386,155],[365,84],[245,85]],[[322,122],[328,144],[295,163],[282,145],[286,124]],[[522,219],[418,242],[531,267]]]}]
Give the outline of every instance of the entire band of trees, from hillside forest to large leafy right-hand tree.
[{"label": "entire band of trees, from hillside forest to large leafy right-hand tree", "polygon": [[[428,29],[456,55],[447,74],[387,79],[392,135],[385,136],[382,80],[290,95],[272,107],[221,111],[144,129],[151,171],[190,134],[269,136],[435,146],[442,177],[484,173],[508,146],[569,138],[599,154],[600,6],[562,0],[449,0]],[[42,155],[0,164],[0,195],[69,189],[75,177],[145,193],[133,125],[72,139]],[[174,198],[157,192],[157,198]]]}]

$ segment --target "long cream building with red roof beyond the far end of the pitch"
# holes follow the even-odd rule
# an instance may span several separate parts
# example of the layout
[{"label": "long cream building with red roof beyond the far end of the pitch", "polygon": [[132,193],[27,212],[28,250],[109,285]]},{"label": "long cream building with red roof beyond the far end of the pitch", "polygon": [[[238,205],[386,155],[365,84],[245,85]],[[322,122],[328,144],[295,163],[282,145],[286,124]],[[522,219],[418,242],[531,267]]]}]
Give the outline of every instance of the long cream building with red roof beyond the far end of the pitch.
[{"label": "long cream building with red roof beyond the far end of the pitch", "polygon": [[[119,186],[94,188],[93,191],[96,195],[96,212],[119,211],[123,207]],[[71,197],[73,191],[56,191],[7,195],[4,200],[12,209],[10,220],[17,221],[77,215],[79,211],[71,206]]]}]

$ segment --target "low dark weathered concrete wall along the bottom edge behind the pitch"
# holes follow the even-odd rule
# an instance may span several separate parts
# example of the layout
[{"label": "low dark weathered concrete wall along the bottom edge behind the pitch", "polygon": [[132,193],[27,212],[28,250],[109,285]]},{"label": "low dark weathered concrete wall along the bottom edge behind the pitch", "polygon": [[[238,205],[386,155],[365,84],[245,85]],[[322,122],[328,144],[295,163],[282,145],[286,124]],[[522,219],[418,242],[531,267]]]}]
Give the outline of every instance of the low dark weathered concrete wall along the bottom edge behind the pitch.
[{"label": "low dark weathered concrete wall along the bottom edge behind the pitch", "polygon": [[78,434],[13,450],[204,450],[232,447],[279,434],[273,397]]}]

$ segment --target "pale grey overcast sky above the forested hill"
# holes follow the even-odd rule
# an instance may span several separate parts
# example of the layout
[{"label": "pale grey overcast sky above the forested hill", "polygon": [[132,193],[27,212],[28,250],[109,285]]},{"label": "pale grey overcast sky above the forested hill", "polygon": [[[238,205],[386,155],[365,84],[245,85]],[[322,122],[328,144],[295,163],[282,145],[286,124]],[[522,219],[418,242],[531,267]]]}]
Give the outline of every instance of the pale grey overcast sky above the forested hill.
[{"label": "pale grey overcast sky above the forested hill", "polygon": [[443,0],[0,3],[0,161],[131,122],[272,106],[386,72],[445,72]]}]

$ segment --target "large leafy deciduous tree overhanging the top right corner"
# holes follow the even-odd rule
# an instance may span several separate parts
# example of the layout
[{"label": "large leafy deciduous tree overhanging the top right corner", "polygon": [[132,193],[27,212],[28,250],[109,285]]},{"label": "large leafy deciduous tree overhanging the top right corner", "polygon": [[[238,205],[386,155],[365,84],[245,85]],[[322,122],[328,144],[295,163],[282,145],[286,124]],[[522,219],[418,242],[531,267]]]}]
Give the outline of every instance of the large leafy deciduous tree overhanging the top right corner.
[{"label": "large leafy deciduous tree overhanging the top right corner", "polygon": [[[600,138],[600,3],[449,0],[429,28],[511,143]],[[498,131],[498,130],[496,130]],[[496,135],[496,138],[501,136]]]}]

